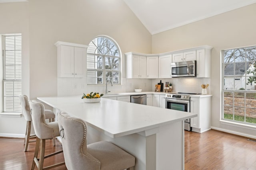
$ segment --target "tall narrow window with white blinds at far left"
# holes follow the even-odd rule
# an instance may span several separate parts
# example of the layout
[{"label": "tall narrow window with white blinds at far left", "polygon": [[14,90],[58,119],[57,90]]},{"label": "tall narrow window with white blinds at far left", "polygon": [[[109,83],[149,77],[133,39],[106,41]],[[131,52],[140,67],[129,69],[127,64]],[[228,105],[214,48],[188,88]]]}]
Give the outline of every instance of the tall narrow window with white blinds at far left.
[{"label": "tall narrow window with white blinds at far left", "polygon": [[20,112],[21,35],[3,35],[3,111]]}]

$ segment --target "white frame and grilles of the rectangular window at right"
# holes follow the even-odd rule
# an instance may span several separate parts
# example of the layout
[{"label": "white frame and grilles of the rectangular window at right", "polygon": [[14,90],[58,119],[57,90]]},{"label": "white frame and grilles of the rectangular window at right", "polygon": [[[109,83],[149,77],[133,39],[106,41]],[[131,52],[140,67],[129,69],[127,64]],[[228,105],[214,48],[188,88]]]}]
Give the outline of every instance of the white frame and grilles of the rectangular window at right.
[{"label": "white frame and grilles of the rectangular window at right", "polygon": [[[222,84],[221,84],[221,89],[222,89],[222,92],[221,92],[221,117],[220,117],[220,121],[223,121],[223,122],[229,122],[229,123],[235,123],[235,124],[240,124],[240,125],[246,125],[246,126],[252,126],[252,127],[254,127],[255,125],[256,125],[256,123],[250,123],[250,122],[246,122],[246,117],[247,117],[247,114],[249,114],[249,110],[250,109],[256,109],[255,107],[248,107],[247,106],[247,104],[246,104],[246,100],[248,100],[248,96],[247,96],[247,94],[255,94],[256,95],[256,89],[251,89],[251,90],[248,90],[248,78],[249,77],[252,77],[252,75],[250,75],[247,71],[248,71],[248,69],[250,68],[247,68],[247,63],[250,63],[250,62],[256,62],[256,58],[254,59],[254,60],[248,60],[247,61],[247,53],[246,53],[246,51],[247,51],[247,49],[248,48],[256,48],[256,45],[253,45],[253,46],[248,46],[248,47],[240,47],[240,48],[233,48],[233,49],[225,49],[225,50],[222,50],[222,52],[221,52],[221,66],[222,66]],[[241,61],[239,61],[239,62],[236,62],[235,60],[233,61],[233,62],[231,62],[231,63],[234,63],[234,66],[233,66],[233,75],[231,76],[230,75],[230,77],[232,77],[232,78],[234,78],[233,79],[233,89],[225,89],[225,86],[226,86],[226,84],[228,83],[228,81],[226,80],[226,78],[227,77],[229,77],[228,75],[225,75],[225,61],[224,61],[224,51],[228,51],[228,50],[237,50],[237,49],[246,49],[246,51],[245,51],[245,61],[243,61],[243,62],[241,62]],[[236,86],[236,79],[237,79],[237,77],[239,77],[238,76],[238,74],[236,74],[236,63],[244,63],[244,65],[245,65],[245,68],[246,68],[246,71],[245,71],[245,74],[244,75],[242,75],[242,73],[241,73],[241,78],[245,78],[244,79],[244,81],[245,81],[245,83],[244,83],[244,85],[245,85],[245,90],[239,90],[239,89],[236,89],[235,88],[235,86]],[[241,71],[241,70],[240,70]],[[244,72],[244,70],[242,70],[243,72]],[[241,72],[242,72],[241,71]],[[253,75],[254,76],[254,75]],[[241,82],[241,83],[243,83],[243,82]],[[252,85],[252,84],[251,84]],[[228,104],[225,104],[225,98],[224,98],[224,94],[225,93],[232,93],[232,106],[231,105],[228,105]],[[236,105],[235,104],[235,98],[239,98],[238,96],[236,96],[236,93],[240,93],[240,94],[243,94],[243,97],[242,97],[242,100],[244,100],[244,106],[239,106],[239,105]],[[230,106],[230,107],[232,107],[232,119],[227,119],[227,118],[224,118],[224,107],[225,106]],[[236,110],[236,109],[244,109],[244,112],[243,112],[243,116],[244,116],[244,121],[238,121],[237,119],[235,119],[235,115],[237,114],[238,115],[238,111]],[[246,109],[248,110],[248,112],[246,112]],[[248,118],[247,118],[248,119]]]}]

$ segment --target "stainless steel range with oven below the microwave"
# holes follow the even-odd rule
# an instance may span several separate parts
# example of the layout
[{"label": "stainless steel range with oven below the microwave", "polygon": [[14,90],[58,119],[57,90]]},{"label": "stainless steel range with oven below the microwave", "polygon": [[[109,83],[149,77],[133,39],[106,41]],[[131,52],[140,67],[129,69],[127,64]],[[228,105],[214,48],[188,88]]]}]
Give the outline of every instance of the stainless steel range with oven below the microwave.
[{"label": "stainless steel range with oven below the microwave", "polygon": [[[165,95],[165,108],[190,112],[190,96],[192,93],[176,93]],[[191,131],[190,119],[184,120],[184,129]]]}]

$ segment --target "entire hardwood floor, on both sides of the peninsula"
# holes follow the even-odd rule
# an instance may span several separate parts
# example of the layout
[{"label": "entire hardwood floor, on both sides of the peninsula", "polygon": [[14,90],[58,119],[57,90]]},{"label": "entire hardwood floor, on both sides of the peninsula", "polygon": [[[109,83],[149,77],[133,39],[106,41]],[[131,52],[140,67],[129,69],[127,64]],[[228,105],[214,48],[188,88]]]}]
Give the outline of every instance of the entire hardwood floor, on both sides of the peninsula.
[{"label": "entire hardwood floor, on both sides of the peninsula", "polygon": [[[24,139],[0,138],[0,170],[30,170],[35,143],[24,152]],[[46,141],[46,154],[62,150]],[[44,167],[64,161],[63,153],[46,158]],[[35,168],[37,169],[37,168]],[[52,170],[66,170],[66,166]],[[185,131],[185,170],[256,170],[256,142],[219,131]]]}]

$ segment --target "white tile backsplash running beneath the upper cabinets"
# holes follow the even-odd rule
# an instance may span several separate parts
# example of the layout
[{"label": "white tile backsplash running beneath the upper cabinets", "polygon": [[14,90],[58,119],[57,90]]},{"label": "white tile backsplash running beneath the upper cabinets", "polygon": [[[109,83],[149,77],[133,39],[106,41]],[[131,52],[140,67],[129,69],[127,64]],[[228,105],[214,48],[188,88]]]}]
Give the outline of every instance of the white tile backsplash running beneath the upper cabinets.
[{"label": "white tile backsplash running beneath the upper cabinets", "polygon": [[[153,92],[155,85],[162,80],[172,83],[173,92],[199,93],[201,94],[202,84],[210,84],[210,78],[158,78],[158,79],[136,79],[122,78],[122,85],[108,84],[110,93],[134,92],[134,89],[142,88],[142,92]],[[105,94],[106,84],[87,85],[86,78],[58,78],[58,96],[81,95],[83,93],[99,92]],[[211,84],[207,88],[208,94],[211,92]]]}]

